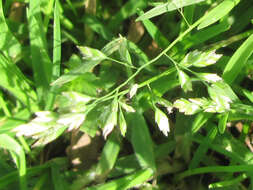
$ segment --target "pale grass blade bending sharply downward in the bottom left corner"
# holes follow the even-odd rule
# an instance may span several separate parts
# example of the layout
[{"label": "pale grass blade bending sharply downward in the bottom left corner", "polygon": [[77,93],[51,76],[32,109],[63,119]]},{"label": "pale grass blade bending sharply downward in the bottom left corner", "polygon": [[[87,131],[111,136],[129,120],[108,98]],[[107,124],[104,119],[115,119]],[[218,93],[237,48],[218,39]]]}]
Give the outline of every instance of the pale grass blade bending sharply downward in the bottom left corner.
[{"label": "pale grass blade bending sharply downward in the bottom left corner", "polygon": [[0,134],[0,147],[15,153],[15,155],[17,156],[18,160],[16,162],[16,165],[19,170],[20,189],[27,190],[26,159],[23,148],[18,144],[15,139],[6,134]]}]

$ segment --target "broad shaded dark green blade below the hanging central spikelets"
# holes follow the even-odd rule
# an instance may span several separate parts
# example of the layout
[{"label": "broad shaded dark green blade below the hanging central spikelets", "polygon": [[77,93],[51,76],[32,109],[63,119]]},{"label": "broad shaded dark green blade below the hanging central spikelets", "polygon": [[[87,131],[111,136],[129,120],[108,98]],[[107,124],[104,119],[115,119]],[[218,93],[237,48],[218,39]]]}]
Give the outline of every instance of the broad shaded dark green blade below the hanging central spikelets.
[{"label": "broad shaded dark green blade below the hanging central spikelets", "polygon": [[144,117],[139,112],[127,114],[131,143],[142,168],[156,171],[153,142]]}]

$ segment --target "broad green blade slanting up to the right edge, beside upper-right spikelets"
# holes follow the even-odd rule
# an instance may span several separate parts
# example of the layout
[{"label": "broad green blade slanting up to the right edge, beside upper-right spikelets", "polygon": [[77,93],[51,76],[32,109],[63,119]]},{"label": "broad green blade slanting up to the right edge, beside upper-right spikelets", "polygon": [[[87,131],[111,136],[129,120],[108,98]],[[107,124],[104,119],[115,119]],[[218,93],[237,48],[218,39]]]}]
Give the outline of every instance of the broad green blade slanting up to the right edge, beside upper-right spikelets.
[{"label": "broad green blade slanting up to the right edge, beside upper-right spikelets", "polygon": [[236,50],[223,72],[223,79],[232,84],[253,53],[253,34]]}]

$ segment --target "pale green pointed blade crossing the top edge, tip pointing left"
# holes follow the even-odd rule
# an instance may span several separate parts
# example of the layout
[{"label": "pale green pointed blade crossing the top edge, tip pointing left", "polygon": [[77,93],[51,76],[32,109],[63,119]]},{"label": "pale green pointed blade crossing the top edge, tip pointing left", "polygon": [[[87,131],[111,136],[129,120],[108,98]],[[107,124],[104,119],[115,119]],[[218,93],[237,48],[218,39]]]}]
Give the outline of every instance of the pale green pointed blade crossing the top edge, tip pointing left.
[{"label": "pale green pointed blade crossing the top edge, tip pointing left", "polygon": [[143,15],[139,16],[136,21],[142,21],[145,19],[149,19],[158,15],[161,15],[163,13],[174,11],[189,5],[197,4],[205,0],[173,0],[168,3],[160,4],[153,9],[149,10],[148,12],[144,13]]}]

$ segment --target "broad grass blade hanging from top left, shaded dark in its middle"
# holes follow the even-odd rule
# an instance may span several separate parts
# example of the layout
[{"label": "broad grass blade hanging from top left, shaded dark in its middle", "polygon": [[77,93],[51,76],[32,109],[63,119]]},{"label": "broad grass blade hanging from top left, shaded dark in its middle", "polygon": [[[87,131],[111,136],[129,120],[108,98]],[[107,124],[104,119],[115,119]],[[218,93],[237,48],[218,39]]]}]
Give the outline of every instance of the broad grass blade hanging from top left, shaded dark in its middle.
[{"label": "broad grass blade hanging from top left, shaded dark in its middle", "polygon": [[46,36],[40,12],[41,1],[29,1],[28,22],[30,34],[33,76],[36,83],[38,99],[47,98],[52,75],[52,63],[47,52]]}]

